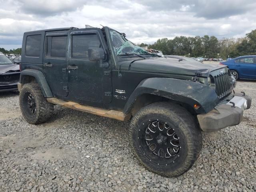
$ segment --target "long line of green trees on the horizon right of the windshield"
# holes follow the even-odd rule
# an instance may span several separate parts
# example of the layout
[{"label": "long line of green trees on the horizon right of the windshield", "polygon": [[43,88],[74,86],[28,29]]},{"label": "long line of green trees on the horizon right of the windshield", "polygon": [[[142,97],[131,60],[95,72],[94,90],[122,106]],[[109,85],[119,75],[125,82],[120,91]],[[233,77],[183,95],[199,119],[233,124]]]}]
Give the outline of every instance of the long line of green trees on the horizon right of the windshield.
[{"label": "long line of green trees on the horizon right of the windshield", "polygon": [[161,50],[164,55],[235,58],[243,55],[256,55],[256,30],[252,30],[244,38],[237,39],[218,39],[208,35],[202,37],[176,36],[174,39],[162,38],[154,44],[141,43],[139,46]]}]

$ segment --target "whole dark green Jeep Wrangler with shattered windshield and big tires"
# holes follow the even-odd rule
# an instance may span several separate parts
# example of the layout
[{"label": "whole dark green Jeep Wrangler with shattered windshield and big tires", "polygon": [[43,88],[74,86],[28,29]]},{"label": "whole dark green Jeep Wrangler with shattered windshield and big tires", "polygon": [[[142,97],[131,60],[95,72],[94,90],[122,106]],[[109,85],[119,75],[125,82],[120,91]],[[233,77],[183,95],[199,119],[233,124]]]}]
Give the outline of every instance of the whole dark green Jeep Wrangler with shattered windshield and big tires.
[{"label": "whole dark green Jeep Wrangler with shattered windshield and big tires", "polygon": [[163,176],[189,170],[201,131],[239,124],[251,105],[226,66],[163,58],[108,27],[25,32],[21,70],[27,122],[45,122],[54,105],[130,121],[132,151]]}]

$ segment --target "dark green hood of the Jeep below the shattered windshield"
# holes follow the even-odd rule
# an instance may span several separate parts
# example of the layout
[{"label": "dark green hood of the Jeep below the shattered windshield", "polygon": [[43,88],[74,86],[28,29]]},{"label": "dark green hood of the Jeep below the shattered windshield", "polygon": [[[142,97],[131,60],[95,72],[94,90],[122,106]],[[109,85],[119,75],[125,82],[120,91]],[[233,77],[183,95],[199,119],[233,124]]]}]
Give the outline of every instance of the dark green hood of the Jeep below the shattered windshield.
[{"label": "dark green hood of the Jeep below the shattered windshield", "polygon": [[138,72],[155,72],[168,74],[195,75],[201,73],[208,76],[211,71],[225,68],[218,64],[195,63],[177,58],[136,58],[119,62],[120,70],[131,70]]}]

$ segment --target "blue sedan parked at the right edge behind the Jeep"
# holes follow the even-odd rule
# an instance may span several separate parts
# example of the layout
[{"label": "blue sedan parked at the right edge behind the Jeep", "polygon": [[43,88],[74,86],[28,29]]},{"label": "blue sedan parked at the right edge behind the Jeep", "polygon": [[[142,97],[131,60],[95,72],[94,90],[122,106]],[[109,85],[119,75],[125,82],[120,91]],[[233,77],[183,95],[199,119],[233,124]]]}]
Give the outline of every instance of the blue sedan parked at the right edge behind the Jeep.
[{"label": "blue sedan parked at the right edge behind the Jeep", "polygon": [[256,55],[240,56],[220,64],[228,66],[236,80],[256,79]]}]

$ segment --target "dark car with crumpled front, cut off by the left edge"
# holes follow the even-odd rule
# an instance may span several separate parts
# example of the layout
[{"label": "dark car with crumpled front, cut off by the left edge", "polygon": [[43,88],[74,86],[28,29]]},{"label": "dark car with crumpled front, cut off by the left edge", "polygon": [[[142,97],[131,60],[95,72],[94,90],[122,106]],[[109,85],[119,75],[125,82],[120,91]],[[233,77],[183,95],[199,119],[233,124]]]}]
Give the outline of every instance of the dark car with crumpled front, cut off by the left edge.
[{"label": "dark car with crumpled front, cut off by the left edge", "polygon": [[17,91],[20,66],[0,52],[0,92]]}]

